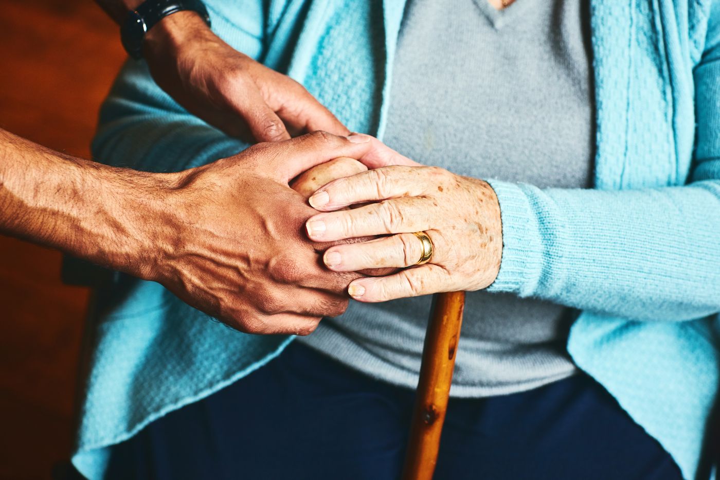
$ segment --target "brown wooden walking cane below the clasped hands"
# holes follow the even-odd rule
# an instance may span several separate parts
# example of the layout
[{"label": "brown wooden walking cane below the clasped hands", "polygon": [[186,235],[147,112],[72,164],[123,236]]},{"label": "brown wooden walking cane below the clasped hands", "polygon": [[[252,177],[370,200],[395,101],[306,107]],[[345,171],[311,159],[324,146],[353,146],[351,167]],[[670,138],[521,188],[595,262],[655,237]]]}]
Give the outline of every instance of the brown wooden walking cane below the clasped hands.
[{"label": "brown wooden walking cane below the clasped hands", "polygon": [[402,480],[433,478],[464,306],[464,292],[438,293],[433,298]]}]

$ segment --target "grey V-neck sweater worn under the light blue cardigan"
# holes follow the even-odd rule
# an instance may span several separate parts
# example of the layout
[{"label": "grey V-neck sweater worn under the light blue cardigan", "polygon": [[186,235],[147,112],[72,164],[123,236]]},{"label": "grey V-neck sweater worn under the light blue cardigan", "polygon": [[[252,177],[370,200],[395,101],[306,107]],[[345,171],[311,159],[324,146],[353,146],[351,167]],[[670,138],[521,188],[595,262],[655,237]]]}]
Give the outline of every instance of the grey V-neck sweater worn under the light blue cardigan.
[{"label": "grey V-neck sweater worn under the light blue cardigan", "polygon": [[[458,174],[585,188],[594,108],[587,0],[413,0],[395,58],[384,141]],[[431,298],[351,302],[300,342],[415,388]],[[467,294],[451,395],[509,394],[575,373],[569,308]]]}]

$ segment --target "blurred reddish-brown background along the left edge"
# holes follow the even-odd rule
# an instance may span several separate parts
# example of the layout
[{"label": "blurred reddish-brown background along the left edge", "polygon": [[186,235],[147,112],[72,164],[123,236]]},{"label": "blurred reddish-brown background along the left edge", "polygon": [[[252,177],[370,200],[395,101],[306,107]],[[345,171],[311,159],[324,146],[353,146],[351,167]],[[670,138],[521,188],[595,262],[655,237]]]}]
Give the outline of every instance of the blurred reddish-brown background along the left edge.
[{"label": "blurred reddish-brown background along the left edge", "polygon": [[[1,0],[0,128],[89,158],[100,102],[125,58],[90,0]],[[88,292],[60,254],[0,236],[0,478],[48,479],[71,448]]]}]

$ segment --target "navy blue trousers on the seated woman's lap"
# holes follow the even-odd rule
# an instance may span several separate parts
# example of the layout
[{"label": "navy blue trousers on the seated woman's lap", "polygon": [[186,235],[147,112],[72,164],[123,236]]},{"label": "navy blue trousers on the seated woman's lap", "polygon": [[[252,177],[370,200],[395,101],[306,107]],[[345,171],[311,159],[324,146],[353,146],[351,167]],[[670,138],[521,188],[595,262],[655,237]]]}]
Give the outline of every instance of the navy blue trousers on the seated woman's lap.
[{"label": "navy blue trousers on the seated woman's lap", "polygon": [[[390,480],[414,392],[294,343],[114,446],[109,479]],[[588,375],[451,399],[436,480],[678,480],[678,466]]]}]

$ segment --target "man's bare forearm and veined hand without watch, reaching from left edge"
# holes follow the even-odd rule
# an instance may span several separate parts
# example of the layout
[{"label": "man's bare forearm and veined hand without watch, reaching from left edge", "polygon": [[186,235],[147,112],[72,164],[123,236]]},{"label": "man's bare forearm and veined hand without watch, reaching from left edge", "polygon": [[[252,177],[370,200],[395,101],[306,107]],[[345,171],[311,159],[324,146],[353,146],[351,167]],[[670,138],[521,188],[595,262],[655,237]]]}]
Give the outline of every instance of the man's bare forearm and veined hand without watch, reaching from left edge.
[{"label": "man's bare forearm and veined hand without watch, reaching from left edge", "polygon": [[154,174],[73,159],[0,130],[0,233],[161,283],[242,332],[308,334],[342,314],[361,275],[330,272],[307,239],[315,210],[289,187],[366,135],[317,132]]}]

